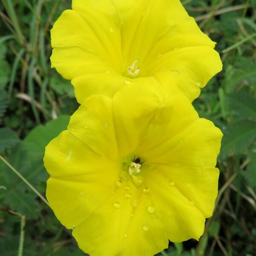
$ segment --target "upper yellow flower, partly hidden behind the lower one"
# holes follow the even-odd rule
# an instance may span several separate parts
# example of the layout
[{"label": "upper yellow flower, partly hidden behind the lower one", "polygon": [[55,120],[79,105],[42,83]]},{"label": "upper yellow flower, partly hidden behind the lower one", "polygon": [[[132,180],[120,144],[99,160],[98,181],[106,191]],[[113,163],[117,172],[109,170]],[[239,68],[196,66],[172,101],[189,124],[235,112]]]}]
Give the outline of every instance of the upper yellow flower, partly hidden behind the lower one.
[{"label": "upper yellow flower, partly hidden behind the lower one", "polygon": [[73,0],[72,8],[51,31],[51,62],[79,103],[137,79],[156,79],[166,99],[192,101],[222,69],[215,43],[179,0]]}]

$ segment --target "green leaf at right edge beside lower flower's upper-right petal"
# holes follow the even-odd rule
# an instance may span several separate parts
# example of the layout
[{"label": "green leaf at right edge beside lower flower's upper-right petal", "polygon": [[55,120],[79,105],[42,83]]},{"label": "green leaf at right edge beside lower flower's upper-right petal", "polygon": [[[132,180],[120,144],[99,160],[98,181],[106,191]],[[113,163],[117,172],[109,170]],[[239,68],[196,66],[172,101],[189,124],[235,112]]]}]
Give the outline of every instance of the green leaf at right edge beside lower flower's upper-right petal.
[{"label": "green leaf at right edge beside lower flower's upper-right petal", "polygon": [[256,122],[244,121],[230,125],[224,131],[220,156],[225,158],[228,155],[244,153],[250,143],[255,139]]}]

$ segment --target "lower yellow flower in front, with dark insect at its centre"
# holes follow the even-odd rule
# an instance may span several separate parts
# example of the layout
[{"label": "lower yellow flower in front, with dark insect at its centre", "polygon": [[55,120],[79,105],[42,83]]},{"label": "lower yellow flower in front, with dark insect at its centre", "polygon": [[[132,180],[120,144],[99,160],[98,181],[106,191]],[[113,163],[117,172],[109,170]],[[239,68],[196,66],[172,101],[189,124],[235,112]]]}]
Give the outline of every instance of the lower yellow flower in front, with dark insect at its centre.
[{"label": "lower yellow flower in front, with dark insect at its centre", "polygon": [[47,199],[90,256],[151,256],[199,239],[218,192],[222,133],[182,94],[134,81],[91,96],[46,148]]}]

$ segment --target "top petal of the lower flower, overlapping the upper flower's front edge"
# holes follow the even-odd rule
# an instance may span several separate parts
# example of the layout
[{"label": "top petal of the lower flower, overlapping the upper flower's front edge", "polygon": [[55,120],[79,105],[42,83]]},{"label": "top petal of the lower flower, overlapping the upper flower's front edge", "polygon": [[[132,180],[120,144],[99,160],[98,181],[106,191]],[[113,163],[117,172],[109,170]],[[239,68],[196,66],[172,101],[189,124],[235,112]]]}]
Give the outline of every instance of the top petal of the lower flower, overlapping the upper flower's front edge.
[{"label": "top petal of the lower flower, overlapping the upper flower's front edge", "polygon": [[159,84],[153,79],[135,79],[113,97],[113,118],[119,153],[134,151],[154,119],[161,101]]}]

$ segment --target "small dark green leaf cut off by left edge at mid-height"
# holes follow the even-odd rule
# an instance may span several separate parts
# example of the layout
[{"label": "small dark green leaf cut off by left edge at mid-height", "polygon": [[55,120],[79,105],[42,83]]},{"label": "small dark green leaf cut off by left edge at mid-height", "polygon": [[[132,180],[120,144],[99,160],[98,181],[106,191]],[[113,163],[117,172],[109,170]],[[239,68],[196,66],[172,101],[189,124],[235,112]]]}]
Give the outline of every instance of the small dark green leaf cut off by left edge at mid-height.
[{"label": "small dark green leaf cut off by left edge at mid-height", "polygon": [[15,131],[9,128],[0,128],[0,152],[6,148],[11,148],[19,141],[18,135]]}]

